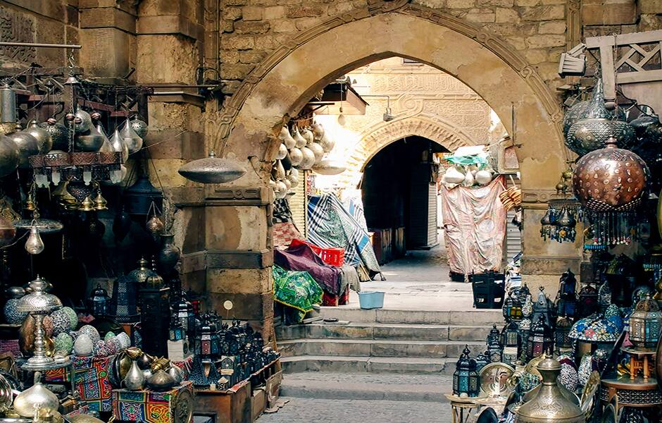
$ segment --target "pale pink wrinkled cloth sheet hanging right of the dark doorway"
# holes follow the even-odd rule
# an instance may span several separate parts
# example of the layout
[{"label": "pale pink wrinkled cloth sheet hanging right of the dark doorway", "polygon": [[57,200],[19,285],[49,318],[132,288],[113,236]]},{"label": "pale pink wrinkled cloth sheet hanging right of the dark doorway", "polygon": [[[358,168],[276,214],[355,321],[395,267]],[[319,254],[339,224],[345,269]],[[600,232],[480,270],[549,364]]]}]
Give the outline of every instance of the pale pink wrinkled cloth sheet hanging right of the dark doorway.
[{"label": "pale pink wrinkled cloth sheet hanging right of the dark doorway", "polygon": [[481,188],[442,186],[442,215],[451,271],[499,270],[506,235],[506,210],[499,200],[504,177]]}]

